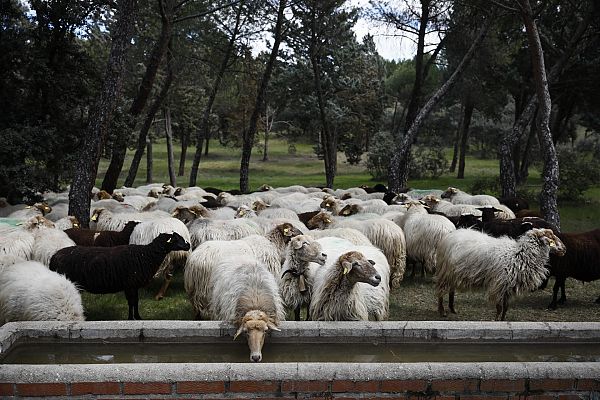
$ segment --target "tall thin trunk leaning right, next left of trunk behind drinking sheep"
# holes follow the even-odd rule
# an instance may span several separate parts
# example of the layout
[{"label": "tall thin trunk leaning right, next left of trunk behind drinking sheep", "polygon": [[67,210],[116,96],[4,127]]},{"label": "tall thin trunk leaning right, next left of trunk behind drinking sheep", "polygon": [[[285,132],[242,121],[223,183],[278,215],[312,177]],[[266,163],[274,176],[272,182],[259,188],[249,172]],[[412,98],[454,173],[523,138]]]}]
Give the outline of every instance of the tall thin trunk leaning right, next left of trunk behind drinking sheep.
[{"label": "tall thin trunk leaning right, next left of trunk behind drinking sheep", "polygon": [[[238,6],[237,13],[235,15],[235,26],[233,28],[233,32],[231,33],[231,37],[229,38],[229,42],[227,42],[227,48],[225,49],[225,55],[223,56],[223,60],[221,60],[219,71],[217,72],[215,81],[213,82],[212,88],[210,89],[208,100],[206,102],[206,107],[204,107],[204,112],[202,113],[200,127],[196,132],[196,152],[194,153],[194,161],[192,161],[192,168],[190,170],[190,186],[196,186],[196,182],[198,180],[198,170],[200,169],[200,161],[202,159],[202,148],[204,144],[204,139],[206,139],[208,142],[209,137],[208,132],[210,128],[210,113],[212,111],[215,98],[217,97],[217,93],[219,92],[219,87],[221,86],[223,76],[225,75],[225,71],[227,70],[229,59],[233,54],[233,49],[235,48],[235,41],[237,40],[238,34],[240,32],[243,6],[243,3],[240,3],[240,5]],[[206,152],[208,153],[208,143],[206,146]]]}]

